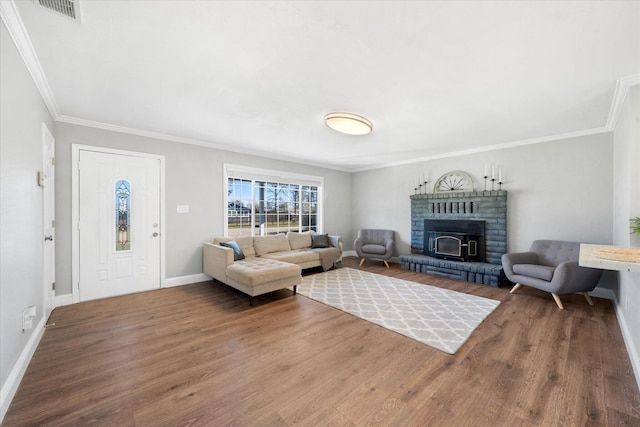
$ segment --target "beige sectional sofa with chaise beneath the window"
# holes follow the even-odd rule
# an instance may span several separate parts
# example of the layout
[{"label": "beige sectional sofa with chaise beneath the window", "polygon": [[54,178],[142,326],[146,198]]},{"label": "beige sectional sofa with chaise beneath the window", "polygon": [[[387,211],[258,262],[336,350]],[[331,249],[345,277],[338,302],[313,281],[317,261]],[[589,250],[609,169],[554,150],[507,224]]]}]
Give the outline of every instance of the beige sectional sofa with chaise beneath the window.
[{"label": "beige sectional sofa with chaise beneath the window", "polygon": [[278,289],[293,287],[295,295],[303,269],[328,270],[341,260],[342,237],[313,232],[216,237],[202,248],[204,273],[249,295],[252,306],[254,296]]}]

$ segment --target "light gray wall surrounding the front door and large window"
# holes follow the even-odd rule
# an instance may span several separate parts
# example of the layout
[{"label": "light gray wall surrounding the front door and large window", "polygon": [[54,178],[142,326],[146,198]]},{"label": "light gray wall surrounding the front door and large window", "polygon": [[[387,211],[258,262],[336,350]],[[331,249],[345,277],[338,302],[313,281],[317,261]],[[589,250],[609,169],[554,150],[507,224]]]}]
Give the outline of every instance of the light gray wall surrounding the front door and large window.
[{"label": "light gray wall surrounding the front door and large window", "polygon": [[[343,236],[351,232],[349,173],[61,122],[56,122],[54,135],[57,295],[71,293],[72,144],[165,156],[166,274],[169,279],[202,273],[202,243],[223,234],[224,163],[324,177],[324,231]],[[189,205],[189,213],[176,213],[177,205]]]}]

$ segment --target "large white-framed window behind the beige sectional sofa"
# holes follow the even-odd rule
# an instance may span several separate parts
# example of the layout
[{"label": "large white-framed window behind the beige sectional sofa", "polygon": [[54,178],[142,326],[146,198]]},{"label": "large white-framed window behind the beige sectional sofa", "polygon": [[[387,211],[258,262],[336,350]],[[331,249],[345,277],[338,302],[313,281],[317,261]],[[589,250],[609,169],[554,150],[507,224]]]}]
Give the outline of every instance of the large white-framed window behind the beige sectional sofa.
[{"label": "large white-framed window behind the beige sectional sofa", "polygon": [[322,231],[322,178],[225,165],[229,237]]}]

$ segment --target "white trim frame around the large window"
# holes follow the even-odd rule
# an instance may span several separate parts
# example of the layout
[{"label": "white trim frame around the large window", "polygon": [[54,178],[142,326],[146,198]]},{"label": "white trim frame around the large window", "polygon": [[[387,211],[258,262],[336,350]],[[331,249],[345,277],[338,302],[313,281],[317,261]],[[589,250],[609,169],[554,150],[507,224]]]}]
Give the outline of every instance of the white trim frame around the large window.
[{"label": "white trim frame around the large window", "polygon": [[[224,195],[223,209],[223,230],[224,235],[229,235],[229,194],[227,192],[229,178],[247,179],[253,181],[278,182],[282,184],[294,184],[313,186],[318,188],[318,213],[317,213],[317,232],[322,233],[324,230],[324,178],[321,176],[304,175],[292,172],[277,171],[271,169],[255,168],[251,166],[235,165],[225,163],[223,165],[222,186]],[[254,199],[254,188],[251,188],[251,199]],[[252,230],[253,233],[253,230]]]}]

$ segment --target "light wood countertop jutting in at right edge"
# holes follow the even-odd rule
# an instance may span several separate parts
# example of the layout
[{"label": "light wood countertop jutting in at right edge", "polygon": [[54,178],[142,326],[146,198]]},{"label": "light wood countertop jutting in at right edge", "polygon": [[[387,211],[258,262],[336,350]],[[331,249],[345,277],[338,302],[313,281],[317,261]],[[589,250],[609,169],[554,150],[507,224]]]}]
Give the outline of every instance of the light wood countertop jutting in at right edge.
[{"label": "light wood countertop jutting in at right edge", "polygon": [[603,270],[640,272],[640,248],[581,243],[578,264]]}]

